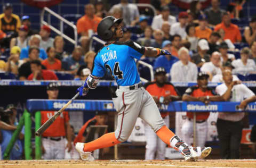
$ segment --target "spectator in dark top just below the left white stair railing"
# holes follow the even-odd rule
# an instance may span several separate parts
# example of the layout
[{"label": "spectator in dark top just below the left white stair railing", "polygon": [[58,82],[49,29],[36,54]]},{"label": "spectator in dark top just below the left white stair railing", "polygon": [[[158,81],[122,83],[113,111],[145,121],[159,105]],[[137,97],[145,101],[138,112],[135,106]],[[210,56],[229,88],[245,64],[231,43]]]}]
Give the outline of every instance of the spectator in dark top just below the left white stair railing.
[{"label": "spectator in dark top just below the left white stair railing", "polygon": [[63,37],[56,36],[53,41],[53,47],[55,48],[55,58],[58,60],[63,60],[63,58],[67,57],[67,53],[64,51],[65,42]]}]

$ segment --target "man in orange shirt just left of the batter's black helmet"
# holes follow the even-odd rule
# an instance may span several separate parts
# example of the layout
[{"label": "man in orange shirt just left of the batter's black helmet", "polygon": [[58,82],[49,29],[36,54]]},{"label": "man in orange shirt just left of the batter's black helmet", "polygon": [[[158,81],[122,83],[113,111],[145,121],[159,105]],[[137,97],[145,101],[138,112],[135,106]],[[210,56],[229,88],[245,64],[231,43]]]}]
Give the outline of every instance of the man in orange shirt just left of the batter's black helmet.
[{"label": "man in orange shirt just left of the batter's black helmet", "polygon": [[102,18],[94,15],[95,9],[93,4],[87,4],[84,6],[85,15],[78,19],[76,23],[77,33],[81,35],[81,44],[84,48],[84,52],[89,51],[89,40],[92,33],[97,32],[97,27]]}]

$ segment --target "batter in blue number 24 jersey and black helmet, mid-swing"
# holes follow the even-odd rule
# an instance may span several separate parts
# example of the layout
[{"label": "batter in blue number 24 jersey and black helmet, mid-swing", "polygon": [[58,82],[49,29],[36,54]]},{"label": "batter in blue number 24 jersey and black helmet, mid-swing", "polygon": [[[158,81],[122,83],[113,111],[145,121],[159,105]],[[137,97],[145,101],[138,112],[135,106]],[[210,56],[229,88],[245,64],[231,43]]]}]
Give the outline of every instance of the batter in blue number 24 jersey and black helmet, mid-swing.
[{"label": "batter in blue number 24 jersey and black helmet, mid-swing", "polygon": [[133,41],[119,43],[118,39],[123,37],[120,24],[122,20],[107,16],[99,23],[98,35],[107,43],[95,55],[92,73],[84,85],[77,89],[81,96],[86,95],[88,88],[95,89],[99,79],[108,71],[117,82],[116,96],[113,97],[118,112],[117,129],[88,143],[77,142],[76,149],[81,158],[92,161],[93,150],[114,146],[127,140],[138,116],[150,125],[165,144],[179,150],[186,161],[208,156],[211,147],[198,147],[194,150],[166,127],[154,99],[142,88],[134,58],[139,60],[142,55],[155,57],[171,53],[160,48],[143,47]]}]

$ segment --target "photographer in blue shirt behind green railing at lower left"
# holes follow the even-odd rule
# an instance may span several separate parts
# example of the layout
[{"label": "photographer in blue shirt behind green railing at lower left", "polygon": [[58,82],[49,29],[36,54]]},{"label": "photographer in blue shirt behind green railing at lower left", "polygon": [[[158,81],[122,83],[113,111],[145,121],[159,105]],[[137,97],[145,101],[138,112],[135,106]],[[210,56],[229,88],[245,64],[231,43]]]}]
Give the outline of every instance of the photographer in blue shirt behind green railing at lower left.
[{"label": "photographer in blue shirt behind green railing at lower left", "polygon": [[[2,135],[2,140],[1,140],[2,156],[4,155],[5,149],[12,138],[13,130],[16,129],[15,127],[16,115],[17,115],[17,109],[12,104],[8,105],[6,110],[3,110],[3,108],[0,110],[0,116],[1,116],[1,122],[2,122],[0,124],[1,135]],[[3,125],[3,127],[1,127],[1,125]],[[23,137],[24,137],[23,133],[20,133],[19,139],[15,141],[15,144],[11,150],[10,159],[21,158],[21,155],[23,152],[21,140],[23,139]]]}]

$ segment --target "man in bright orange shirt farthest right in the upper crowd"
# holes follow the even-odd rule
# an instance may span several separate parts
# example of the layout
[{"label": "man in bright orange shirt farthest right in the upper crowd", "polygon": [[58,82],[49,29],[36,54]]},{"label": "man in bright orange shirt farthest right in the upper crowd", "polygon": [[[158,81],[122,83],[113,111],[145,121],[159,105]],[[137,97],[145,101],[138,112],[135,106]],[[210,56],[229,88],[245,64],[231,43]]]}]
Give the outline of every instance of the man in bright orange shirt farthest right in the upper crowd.
[{"label": "man in bright orange shirt farthest right in the upper crowd", "polygon": [[231,23],[230,14],[227,12],[222,14],[222,22],[215,26],[214,31],[218,31],[219,29],[225,31],[224,39],[230,39],[232,43],[240,42],[242,40],[238,26]]}]

